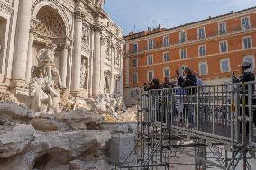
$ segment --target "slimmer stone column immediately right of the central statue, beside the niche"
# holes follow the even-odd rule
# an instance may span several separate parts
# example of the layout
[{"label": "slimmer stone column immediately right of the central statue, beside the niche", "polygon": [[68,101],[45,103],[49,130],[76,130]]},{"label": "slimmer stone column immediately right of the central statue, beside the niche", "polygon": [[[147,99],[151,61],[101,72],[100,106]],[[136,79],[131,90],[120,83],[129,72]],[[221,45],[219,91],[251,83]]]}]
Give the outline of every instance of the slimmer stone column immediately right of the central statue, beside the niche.
[{"label": "slimmer stone column immediately right of the central statue, beside the niche", "polygon": [[64,88],[67,88],[68,54],[69,54],[69,45],[65,44],[62,49],[62,60],[61,60],[61,80],[62,80],[62,86]]}]

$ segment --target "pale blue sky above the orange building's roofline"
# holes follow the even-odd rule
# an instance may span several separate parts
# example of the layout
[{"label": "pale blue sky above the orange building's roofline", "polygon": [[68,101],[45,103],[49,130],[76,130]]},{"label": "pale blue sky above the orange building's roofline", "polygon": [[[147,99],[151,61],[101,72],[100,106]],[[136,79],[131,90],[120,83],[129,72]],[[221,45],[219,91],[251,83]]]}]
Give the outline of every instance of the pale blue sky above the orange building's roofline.
[{"label": "pale blue sky above the orange building's roofline", "polygon": [[165,28],[256,6],[256,0],[106,0],[105,11],[126,35]]}]

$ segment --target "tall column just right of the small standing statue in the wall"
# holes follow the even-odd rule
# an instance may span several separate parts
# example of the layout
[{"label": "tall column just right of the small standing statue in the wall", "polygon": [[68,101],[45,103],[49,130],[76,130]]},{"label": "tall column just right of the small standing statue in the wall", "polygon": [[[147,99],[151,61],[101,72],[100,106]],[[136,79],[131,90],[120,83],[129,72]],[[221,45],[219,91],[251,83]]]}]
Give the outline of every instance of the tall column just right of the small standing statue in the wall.
[{"label": "tall column just right of the small standing statue in the wall", "polygon": [[100,37],[101,37],[101,28],[99,25],[94,26],[94,60],[93,60],[93,97],[97,97],[100,91],[100,54],[101,54],[101,47],[100,47]]}]

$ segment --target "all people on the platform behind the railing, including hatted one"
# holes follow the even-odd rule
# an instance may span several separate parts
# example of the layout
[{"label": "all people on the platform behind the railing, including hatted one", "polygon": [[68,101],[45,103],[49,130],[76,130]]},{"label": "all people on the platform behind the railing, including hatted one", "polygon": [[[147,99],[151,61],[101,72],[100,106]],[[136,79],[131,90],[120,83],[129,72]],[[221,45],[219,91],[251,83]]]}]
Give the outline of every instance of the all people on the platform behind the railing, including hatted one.
[{"label": "all people on the platform behind the railing, including hatted one", "polygon": [[[253,73],[254,68],[251,67],[251,62],[249,61],[242,61],[242,64],[240,65],[241,67],[241,76],[239,77],[235,77],[234,73],[232,76],[232,82],[233,83],[246,83],[246,82],[254,82],[255,81],[255,76]],[[199,78],[199,76],[197,76],[197,73],[192,71],[189,67],[186,67],[183,71],[183,75],[180,76],[179,74],[179,70],[176,71],[176,81],[170,81],[169,77],[165,77],[164,81],[162,84],[160,84],[160,81],[158,79],[153,79],[150,83],[145,83],[144,84],[144,91],[150,91],[150,90],[154,90],[154,89],[166,89],[166,88],[175,88],[175,87],[181,87],[178,88],[178,90],[182,90],[182,93],[185,95],[191,95],[191,94],[195,94],[197,92],[197,88],[187,88],[187,87],[194,87],[194,86],[198,86],[198,85],[205,85],[203,83],[203,81]],[[252,85],[252,91],[255,91],[255,85]],[[185,88],[185,89],[183,89]],[[179,92],[179,91],[176,91]],[[252,93],[253,93],[252,92]],[[248,85],[245,85],[245,93],[248,94]],[[193,99],[189,98],[189,99]],[[245,96],[245,104],[248,105],[248,96]],[[191,101],[190,101],[191,102]],[[253,105],[256,104],[256,99],[252,98],[251,102]],[[179,101],[179,103],[182,103],[182,101]],[[188,101],[189,103],[189,101]],[[240,99],[240,103],[242,104],[242,96]],[[192,105],[190,105],[192,106]],[[186,112],[186,117],[190,120],[189,122],[194,122],[193,121],[193,115],[188,115],[187,112],[189,110],[189,106],[182,106],[180,109],[178,108],[174,108],[174,112],[177,113],[179,119],[180,119],[180,115],[178,112]],[[192,109],[193,110],[193,109]],[[242,116],[242,107],[240,107],[240,115]],[[249,108],[246,107],[245,108],[245,115],[249,116]],[[253,109],[252,110],[252,122],[254,123],[254,126],[256,126],[256,110]],[[157,114],[157,120],[160,121],[160,114]],[[165,120],[165,118],[164,118]],[[182,120],[180,121],[182,122]],[[240,122],[240,132],[242,133],[242,122]],[[245,131],[246,134],[249,133],[249,121],[247,121],[245,123]]]}]

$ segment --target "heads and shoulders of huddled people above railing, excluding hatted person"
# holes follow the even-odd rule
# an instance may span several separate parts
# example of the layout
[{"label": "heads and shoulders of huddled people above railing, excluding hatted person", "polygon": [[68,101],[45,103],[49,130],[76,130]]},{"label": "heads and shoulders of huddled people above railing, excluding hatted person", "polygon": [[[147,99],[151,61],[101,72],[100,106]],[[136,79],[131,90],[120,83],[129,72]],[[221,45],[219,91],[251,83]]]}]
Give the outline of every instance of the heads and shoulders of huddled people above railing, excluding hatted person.
[{"label": "heads and shoulders of huddled people above railing, excluding hatted person", "polygon": [[197,72],[192,71],[189,67],[186,67],[183,71],[183,75],[180,76],[179,70],[176,71],[177,81],[170,81],[169,77],[165,77],[162,84],[159,79],[153,79],[150,83],[144,83],[144,91],[150,91],[153,89],[162,88],[174,88],[174,87],[190,87],[203,85],[203,81],[197,76]]}]

